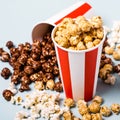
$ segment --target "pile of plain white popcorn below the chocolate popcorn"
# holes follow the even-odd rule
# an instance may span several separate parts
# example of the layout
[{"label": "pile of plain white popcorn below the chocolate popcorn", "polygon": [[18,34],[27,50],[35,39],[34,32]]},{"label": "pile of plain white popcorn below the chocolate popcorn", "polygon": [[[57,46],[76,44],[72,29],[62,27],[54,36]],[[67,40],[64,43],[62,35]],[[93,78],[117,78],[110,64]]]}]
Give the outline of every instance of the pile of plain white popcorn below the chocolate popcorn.
[{"label": "pile of plain white popcorn below the chocolate popcorn", "polygon": [[[19,99],[20,98],[18,97],[18,100]],[[45,91],[36,90],[31,94],[26,95],[26,99],[21,105],[25,109],[29,108],[30,113],[25,119],[34,120],[41,117],[49,120],[59,120],[60,115],[65,111],[60,108],[59,100],[59,93],[49,94]]]}]

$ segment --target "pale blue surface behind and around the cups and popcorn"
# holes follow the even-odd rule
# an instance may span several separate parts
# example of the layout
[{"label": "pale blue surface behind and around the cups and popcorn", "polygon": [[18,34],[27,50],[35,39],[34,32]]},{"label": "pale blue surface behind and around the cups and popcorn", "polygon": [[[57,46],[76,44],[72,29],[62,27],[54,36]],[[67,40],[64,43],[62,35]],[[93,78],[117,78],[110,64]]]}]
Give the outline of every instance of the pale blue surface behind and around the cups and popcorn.
[{"label": "pale blue surface behind and around the cups and popcorn", "polygon": [[[78,1],[80,0],[0,0],[0,47],[5,46],[8,40],[12,40],[16,45],[31,42],[31,32],[37,23]],[[119,0],[86,1],[93,6],[96,14],[103,18],[105,25],[111,27],[113,21],[120,20]],[[0,61],[0,71],[5,66],[9,65]],[[15,113],[22,109],[21,106],[14,106],[3,99],[2,91],[8,84],[9,80],[0,77],[0,120],[14,120]],[[99,80],[96,94],[101,95],[104,104],[108,106],[120,103],[120,78],[114,86],[105,85]],[[79,116],[77,110],[73,111]],[[120,120],[120,115],[112,115],[104,120]]]}]

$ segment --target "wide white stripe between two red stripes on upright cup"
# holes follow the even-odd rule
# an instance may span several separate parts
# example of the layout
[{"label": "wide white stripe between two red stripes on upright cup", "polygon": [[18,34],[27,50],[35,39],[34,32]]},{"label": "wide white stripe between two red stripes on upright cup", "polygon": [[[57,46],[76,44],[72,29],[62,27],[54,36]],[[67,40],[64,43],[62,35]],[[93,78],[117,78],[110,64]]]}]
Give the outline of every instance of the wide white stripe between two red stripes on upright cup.
[{"label": "wide white stripe between two red stripes on upright cup", "polygon": [[72,93],[75,100],[80,99],[80,96],[84,99],[84,64],[85,54],[84,53],[68,53]]}]

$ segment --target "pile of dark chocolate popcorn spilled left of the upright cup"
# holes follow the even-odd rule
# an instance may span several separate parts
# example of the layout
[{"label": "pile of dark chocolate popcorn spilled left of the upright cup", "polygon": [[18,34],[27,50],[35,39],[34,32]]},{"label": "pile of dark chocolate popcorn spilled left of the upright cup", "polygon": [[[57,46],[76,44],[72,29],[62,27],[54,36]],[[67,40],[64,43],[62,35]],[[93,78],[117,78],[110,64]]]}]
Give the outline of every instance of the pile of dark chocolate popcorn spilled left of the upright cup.
[{"label": "pile of dark chocolate popcorn spilled left of the upright cup", "polygon": [[[63,90],[51,33],[44,35],[41,40],[34,40],[32,44],[26,42],[17,47],[12,41],[8,41],[6,47],[9,52],[0,48],[0,60],[8,62],[13,71],[4,67],[1,76],[4,79],[10,77],[15,86],[20,84],[20,92],[30,90],[31,83],[38,84],[41,90],[50,89],[59,92]],[[56,77],[59,78],[58,81]],[[3,91],[3,96],[8,101],[13,95],[9,89]]]}]

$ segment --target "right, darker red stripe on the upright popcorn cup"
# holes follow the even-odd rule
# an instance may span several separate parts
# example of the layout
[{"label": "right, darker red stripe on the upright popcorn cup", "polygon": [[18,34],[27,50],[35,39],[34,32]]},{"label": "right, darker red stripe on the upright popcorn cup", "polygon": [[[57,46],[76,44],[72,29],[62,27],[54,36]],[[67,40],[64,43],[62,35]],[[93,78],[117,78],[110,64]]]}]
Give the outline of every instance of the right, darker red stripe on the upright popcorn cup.
[{"label": "right, darker red stripe on the upright popcorn cup", "polygon": [[85,53],[85,94],[86,101],[93,97],[98,48]]}]

